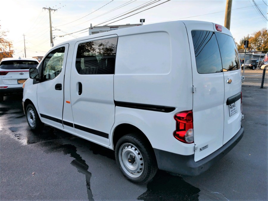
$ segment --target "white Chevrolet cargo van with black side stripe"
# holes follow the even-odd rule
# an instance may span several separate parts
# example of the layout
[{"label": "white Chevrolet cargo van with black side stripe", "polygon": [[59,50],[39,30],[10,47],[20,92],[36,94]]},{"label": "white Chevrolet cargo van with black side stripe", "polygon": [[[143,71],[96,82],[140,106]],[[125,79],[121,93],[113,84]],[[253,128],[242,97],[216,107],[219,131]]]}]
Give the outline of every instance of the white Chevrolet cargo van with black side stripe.
[{"label": "white Chevrolet cargo van with black side stripe", "polygon": [[29,69],[23,107],[115,150],[129,180],[198,175],[242,138],[241,70],[228,29],[170,21],[66,41]]}]

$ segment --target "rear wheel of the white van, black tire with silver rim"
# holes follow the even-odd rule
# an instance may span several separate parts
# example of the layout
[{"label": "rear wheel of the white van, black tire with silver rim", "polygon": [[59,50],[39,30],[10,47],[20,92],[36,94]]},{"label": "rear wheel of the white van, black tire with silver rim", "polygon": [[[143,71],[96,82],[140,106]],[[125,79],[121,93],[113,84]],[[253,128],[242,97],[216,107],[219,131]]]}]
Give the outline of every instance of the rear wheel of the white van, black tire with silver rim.
[{"label": "rear wheel of the white van, black tire with silver rim", "polygon": [[128,180],[146,183],[157,172],[157,162],[152,146],[139,134],[121,137],[115,148],[116,163]]}]

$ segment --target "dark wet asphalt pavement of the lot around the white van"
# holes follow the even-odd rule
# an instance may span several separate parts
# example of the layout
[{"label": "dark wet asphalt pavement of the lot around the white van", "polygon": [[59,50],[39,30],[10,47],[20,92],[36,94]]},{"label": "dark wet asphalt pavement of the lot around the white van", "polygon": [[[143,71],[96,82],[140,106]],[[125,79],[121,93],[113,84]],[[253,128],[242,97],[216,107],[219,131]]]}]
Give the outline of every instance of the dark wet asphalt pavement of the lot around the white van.
[{"label": "dark wet asphalt pavement of the lot around the white van", "polygon": [[21,99],[0,102],[0,200],[267,200],[267,89],[243,87],[245,134],[219,163],[197,177],[158,171],[144,185],[124,178],[113,150],[50,126],[32,132]]}]

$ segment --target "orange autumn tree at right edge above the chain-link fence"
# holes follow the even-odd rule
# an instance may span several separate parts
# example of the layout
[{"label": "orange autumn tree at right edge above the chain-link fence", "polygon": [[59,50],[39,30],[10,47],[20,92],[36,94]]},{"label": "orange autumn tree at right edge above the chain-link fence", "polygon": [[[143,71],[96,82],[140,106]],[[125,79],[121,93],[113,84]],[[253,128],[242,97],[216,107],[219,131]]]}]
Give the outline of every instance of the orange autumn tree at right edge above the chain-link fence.
[{"label": "orange autumn tree at right edge above the chain-link fence", "polygon": [[257,31],[249,39],[249,44],[253,50],[256,51],[267,51],[268,50],[268,33],[266,28],[262,28],[260,31]]}]

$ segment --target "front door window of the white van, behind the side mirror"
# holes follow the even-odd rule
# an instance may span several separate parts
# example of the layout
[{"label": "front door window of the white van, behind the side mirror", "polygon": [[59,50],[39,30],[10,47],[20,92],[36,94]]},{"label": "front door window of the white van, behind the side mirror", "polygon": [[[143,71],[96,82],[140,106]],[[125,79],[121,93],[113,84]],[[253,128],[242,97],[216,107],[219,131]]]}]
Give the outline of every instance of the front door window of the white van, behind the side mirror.
[{"label": "front door window of the white van, behind the side mirror", "polygon": [[62,70],[64,51],[65,47],[60,47],[50,52],[43,60],[42,77],[44,81],[53,79],[60,74]]}]

